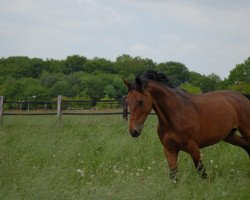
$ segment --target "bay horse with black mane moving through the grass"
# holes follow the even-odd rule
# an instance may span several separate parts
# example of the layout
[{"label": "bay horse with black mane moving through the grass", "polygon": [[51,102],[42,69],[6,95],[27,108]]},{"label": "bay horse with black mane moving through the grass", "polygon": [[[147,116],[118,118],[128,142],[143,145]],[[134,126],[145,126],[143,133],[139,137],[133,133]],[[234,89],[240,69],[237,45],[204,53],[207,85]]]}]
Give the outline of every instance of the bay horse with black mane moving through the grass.
[{"label": "bay horse with black mane moving through the grass", "polygon": [[[202,178],[207,173],[200,148],[223,140],[243,148],[250,156],[250,101],[236,91],[216,91],[191,95],[173,86],[160,72],[147,71],[124,80],[130,110],[129,132],[141,134],[143,124],[153,109],[158,117],[157,133],[164,147],[170,178],[176,180],[179,151],[191,155]],[[247,96],[247,95],[246,95]],[[239,130],[241,136],[235,134]]]}]

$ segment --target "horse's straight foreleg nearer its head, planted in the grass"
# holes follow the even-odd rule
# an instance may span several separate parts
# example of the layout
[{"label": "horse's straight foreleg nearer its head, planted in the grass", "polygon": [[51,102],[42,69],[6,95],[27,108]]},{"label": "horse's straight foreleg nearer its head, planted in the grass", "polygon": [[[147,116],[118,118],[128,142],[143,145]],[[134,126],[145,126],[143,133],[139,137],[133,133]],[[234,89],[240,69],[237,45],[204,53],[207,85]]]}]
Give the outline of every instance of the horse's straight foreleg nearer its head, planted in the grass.
[{"label": "horse's straight foreleg nearer its head, planted in the grass", "polygon": [[173,150],[173,149],[170,150],[170,149],[164,148],[164,153],[165,153],[166,159],[168,161],[168,166],[170,169],[169,176],[171,179],[176,181],[177,180],[176,179],[177,160],[178,160],[179,150]]}]

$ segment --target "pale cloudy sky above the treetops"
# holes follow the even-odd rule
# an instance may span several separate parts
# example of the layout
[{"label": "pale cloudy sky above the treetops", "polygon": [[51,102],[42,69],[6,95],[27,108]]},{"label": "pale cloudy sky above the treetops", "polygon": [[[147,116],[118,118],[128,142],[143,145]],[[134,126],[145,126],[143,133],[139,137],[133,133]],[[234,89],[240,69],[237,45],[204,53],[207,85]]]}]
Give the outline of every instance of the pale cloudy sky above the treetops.
[{"label": "pale cloudy sky above the treetops", "polygon": [[229,75],[250,57],[249,0],[0,0],[0,57],[122,54]]}]

